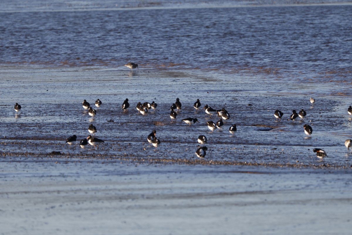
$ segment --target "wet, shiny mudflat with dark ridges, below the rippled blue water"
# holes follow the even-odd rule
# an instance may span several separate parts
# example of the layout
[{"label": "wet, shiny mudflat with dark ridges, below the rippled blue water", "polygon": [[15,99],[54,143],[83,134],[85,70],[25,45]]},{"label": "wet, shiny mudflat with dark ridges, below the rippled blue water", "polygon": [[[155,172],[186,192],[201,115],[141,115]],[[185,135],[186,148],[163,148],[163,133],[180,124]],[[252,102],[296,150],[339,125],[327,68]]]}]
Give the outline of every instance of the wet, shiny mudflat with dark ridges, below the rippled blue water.
[{"label": "wet, shiny mudflat with dark ridges, below the rippled blue water", "polygon": [[[346,72],[331,81],[269,70],[1,67],[0,234],[348,234]],[[81,103],[97,98],[103,105],[92,118]],[[176,98],[182,111],[171,121]],[[197,98],[230,113],[222,131],[209,131],[205,123],[218,118],[195,111]],[[155,112],[137,113],[137,102],[153,100]],[[304,121],[287,120],[301,108]],[[186,117],[200,123],[186,126]],[[91,123],[105,141],[99,150],[65,143],[86,138]],[[157,149],[146,141],[153,129]],[[204,160],[195,155],[201,134]],[[328,157],[320,161],[313,148]]]}]

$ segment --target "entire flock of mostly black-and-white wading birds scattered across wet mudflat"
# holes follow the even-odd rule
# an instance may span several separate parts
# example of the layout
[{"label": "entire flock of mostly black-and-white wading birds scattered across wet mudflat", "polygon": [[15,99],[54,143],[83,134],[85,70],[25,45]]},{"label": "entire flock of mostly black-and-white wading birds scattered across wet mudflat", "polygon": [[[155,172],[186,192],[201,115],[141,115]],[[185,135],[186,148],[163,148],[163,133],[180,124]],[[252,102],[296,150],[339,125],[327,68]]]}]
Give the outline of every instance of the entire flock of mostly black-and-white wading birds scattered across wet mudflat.
[{"label": "entire flock of mostly black-and-white wading birds scattered across wet mudflat", "polygon": [[[124,64],[124,66],[128,67],[131,69],[131,71],[135,68],[138,69],[138,64],[135,64],[135,63],[127,63],[127,64]],[[315,103],[315,99],[313,97],[311,97],[309,99],[310,103],[312,103],[312,105],[314,105]],[[97,99],[95,101],[95,106],[96,107],[100,107],[102,104],[102,102]],[[90,104],[86,101],[86,100],[83,100],[83,103],[82,103],[82,106],[85,110],[88,110],[88,114],[92,117],[94,117],[96,115],[96,110],[93,109]],[[122,103],[122,110],[124,112],[127,112],[127,109],[130,107],[130,104],[128,103],[128,99],[125,99],[124,103]],[[137,106],[136,106],[136,109],[138,112],[142,113],[142,115],[146,115],[149,111],[149,109],[153,109],[155,110],[157,107],[157,104],[152,101],[152,103],[148,103],[148,102],[145,102],[145,103],[140,103],[138,102]],[[180,99],[177,98],[176,99],[176,102],[174,104],[171,105],[170,107],[170,118],[171,120],[174,120],[176,119],[176,116],[177,116],[177,111],[180,111],[181,110],[181,102],[180,102]],[[194,103],[193,107],[196,109],[196,110],[199,110],[200,107],[201,107],[201,103],[199,101],[199,99],[197,99],[197,101]],[[19,112],[20,109],[21,109],[21,105],[19,105],[18,103],[15,104],[15,107],[14,107],[15,111],[16,112]],[[212,117],[212,115],[215,115],[217,114],[218,117],[220,118],[216,123],[214,123],[213,121],[208,121],[207,122],[207,126],[208,128],[213,132],[215,129],[222,129],[222,126],[224,125],[224,122],[222,122],[222,119],[223,120],[227,120],[230,118],[230,114],[224,109],[219,109],[219,110],[215,110],[215,109],[212,109],[212,107],[208,106],[208,105],[205,105],[203,107],[203,109],[205,110],[205,112],[210,115],[210,117]],[[176,110],[176,111],[175,111]],[[347,112],[349,115],[352,115],[352,106],[348,107],[347,109]],[[306,111],[304,111],[303,109],[300,110],[300,112],[296,112],[296,110],[292,110],[292,114],[290,115],[290,118],[288,120],[292,120],[293,122],[295,121],[295,119],[297,117],[300,117],[301,120],[304,119],[304,117],[307,115]],[[283,116],[283,113],[279,110],[275,110],[274,112],[274,117],[276,118],[276,120],[279,120],[281,121],[281,118]],[[186,123],[186,125],[191,125],[193,123],[196,123],[196,122],[199,122],[197,118],[183,118],[182,119],[183,122]],[[313,132],[313,129],[310,125],[308,124],[304,124],[303,125],[303,128],[304,128],[304,133],[307,135],[307,136],[311,136],[312,135],[312,132]],[[236,124],[233,124],[230,126],[229,128],[229,131],[231,134],[234,134],[235,131],[237,131],[237,127],[236,127]],[[92,135],[89,135],[87,138],[85,139],[82,139],[80,141],[80,147],[81,148],[85,148],[88,144],[94,146],[94,149],[95,149],[95,146],[97,147],[97,149],[99,149],[99,144],[102,144],[104,143],[103,140],[99,139],[99,138],[96,138],[94,137],[94,134],[96,132],[96,127],[93,125],[93,124],[90,124],[89,127],[88,127],[88,132],[90,134],[93,134]],[[77,141],[77,136],[76,135],[73,135],[73,136],[70,136],[69,138],[66,139],[66,143],[68,143],[69,145],[72,145],[74,144],[75,142]],[[156,137],[156,130],[153,130],[148,136],[147,136],[147,141],[149,143],[151,143],[155,148],[158,147],[158,145],[161,143],[160,140]],[[198,137],[198,143],[200,145],[202,144],[205,144],[207,142],[207,137],[204,136],[204,135],[200,135]],[[350,153],[350,147],[351,147],[351,153],[352,153],[352,140],[351,139],[347,139],[345,141],[345,146],[347,148],[347,151],[348,151],[348,154]],[[205,155],[206,155],[206,150],[208,148],[206,146],[203,146],[203,147],[199,147],[195,154],[197,155],[197,157],[200,157],[200,158],[204,158]],[[327,156],[326,152],[322,149],[319,149],[319,148],[314,148],[313,151],[316,153],[316,156],[319,158],[319,159],[323,159],[323,157]]]}]

